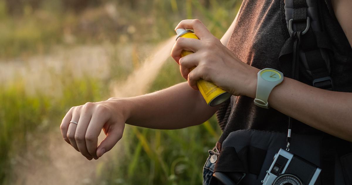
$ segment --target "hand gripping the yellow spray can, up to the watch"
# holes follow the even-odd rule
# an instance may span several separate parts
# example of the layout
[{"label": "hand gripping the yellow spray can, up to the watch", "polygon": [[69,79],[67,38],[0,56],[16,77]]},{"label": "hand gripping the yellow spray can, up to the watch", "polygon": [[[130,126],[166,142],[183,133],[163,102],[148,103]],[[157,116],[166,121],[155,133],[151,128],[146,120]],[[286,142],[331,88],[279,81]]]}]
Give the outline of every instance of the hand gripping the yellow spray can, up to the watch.
[{"label": "hand gripping the yellow spray can, up to the watch", "polygon": [[[180,65],[183,78],[198,90],[196,81],[211,81],[233,95],[255,96],[259,69],[240,61],[198,19],[182,20],[175,28],[193,29],[198,39],[177,39],[171,56]],[[181,58],[182,50],[193,54]],[[194,68],[190,71],[190,68]]]}]

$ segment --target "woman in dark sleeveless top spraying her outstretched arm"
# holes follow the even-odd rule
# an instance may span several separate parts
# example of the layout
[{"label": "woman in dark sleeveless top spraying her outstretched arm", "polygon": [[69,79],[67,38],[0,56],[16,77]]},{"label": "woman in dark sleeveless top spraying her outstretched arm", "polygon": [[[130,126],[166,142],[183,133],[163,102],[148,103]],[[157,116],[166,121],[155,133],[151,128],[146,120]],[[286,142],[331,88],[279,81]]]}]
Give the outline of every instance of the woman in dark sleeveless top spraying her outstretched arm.
[{"label": "woman in dark sleeveless top spraying her outstretched arm", "polygon": [[[280,24],[279,0],[245,0],[220,41],[200,20],[183,20],[177,25],[176,29],[193,29],[200,38],[178,38],[171,52],[188,84],[177,84],[139,97],[110,98],[72,107],[61,124],[64,140],[88,160],[98,159],[122,137],[125,123],[155,129],[185,128],[205,122],[222,106],[219,121],[226,127],[217,143],[219,151],[233,131],[287,132],[287,116],[292,118],[293,132],[319,134],[322,131],[351,142],[352,23],[349,18],[352,17],[352,2],[335,0],[332,6],[329,2],[320,3],[326,20],[333,24],[327,26],[328,34],[339,33],[329,35],[335,56],[331,64],[335,91],[312,87],[285,76],[270,92],[267,102],[271,109],[253,103],[257,73],[263,68],[281,69],[278,57],[286,38]],[[335,15],[328,12],[329,8]],[[181,58],[182,50],[195,53]],[[189,72],[194,66],[196,68]],[[196,81],[201,78],[230,92],[231,101],[209,107],[197,92]],[[176,96],[177,99],[173,98]],[[107,136],[97,147],[102,128]],[[205,184],[209,183],[214,170],[214,164],[208,161],[206,167],[210,171],[205,170]]]}]

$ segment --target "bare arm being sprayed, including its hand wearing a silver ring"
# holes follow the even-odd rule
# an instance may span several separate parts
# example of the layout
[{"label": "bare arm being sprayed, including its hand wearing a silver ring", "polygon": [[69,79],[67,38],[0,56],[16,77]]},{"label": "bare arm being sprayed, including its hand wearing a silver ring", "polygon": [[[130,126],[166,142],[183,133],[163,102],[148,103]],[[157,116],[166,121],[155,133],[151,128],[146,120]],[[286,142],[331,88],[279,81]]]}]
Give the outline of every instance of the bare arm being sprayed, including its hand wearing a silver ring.
[{"label": "bare arm being sprayed, including its hand wearing a silver ring", "polygon": [[[224,44],[231,29],[232,26],[222,38]],[[178,129],[205,122],[218,108],[208,106],[200,92],[184,82],[138,97],[110,98],[72,107],[63,118],[60,129],[67,143],[92,160],[98,159],[120,140],[125,123],[155,129]],[[101,129],[106,138],[97,148]]]}]

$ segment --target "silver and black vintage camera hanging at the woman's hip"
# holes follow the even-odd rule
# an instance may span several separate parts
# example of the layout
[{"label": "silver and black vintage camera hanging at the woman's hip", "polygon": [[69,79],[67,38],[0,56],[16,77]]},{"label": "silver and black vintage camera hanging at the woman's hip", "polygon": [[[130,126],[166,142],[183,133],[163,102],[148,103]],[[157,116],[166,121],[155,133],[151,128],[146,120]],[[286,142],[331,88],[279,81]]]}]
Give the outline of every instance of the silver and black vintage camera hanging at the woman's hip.
[{"label": "silver and black vintage camera hanging at the woman's hip", "polygon": [[263,185],[314,185],[321,169],[297,155],[280,149],[266,172]]}]

